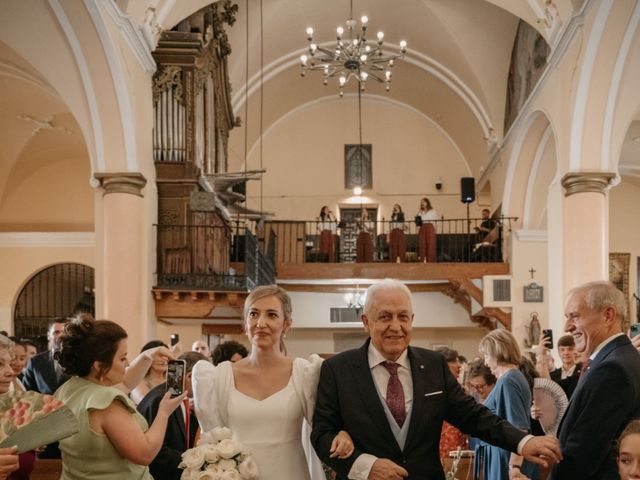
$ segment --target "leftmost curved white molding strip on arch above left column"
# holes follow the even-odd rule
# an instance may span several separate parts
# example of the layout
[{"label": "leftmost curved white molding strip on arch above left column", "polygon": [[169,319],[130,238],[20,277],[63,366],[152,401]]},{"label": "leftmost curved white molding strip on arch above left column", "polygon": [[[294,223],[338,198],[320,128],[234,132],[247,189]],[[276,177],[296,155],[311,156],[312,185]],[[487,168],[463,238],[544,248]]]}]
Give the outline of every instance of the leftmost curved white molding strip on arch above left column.
[{"label": "leftmost curved white molding strip on arch above left column", "polygon": [[[96,95],[96,91],[93,88],[89,65],[87,64],[87,59],[85,58],[84,53],[82,52],[82,47],[80,46],[80,41],[78,40],[76,32],[73,29],[73,25],[71,24],[69,17],[67,17],[67,14],[62,8],[60,0],[48,0],[48,3],[56,19],[58,20],[60,28],[67,38],[69,48],[73,53],[73,58],[75,59],[76,67],[78,68],[78,72],[82,80],[82,86],[84,88],[84,98],[89,108],[89,116],[91,118],[91,132],[93,133],[93,142],[95,144],[94,149],[89,149],[89,158],[91,159],[92,170],[94,172],[101,171],[105,169],[104,138],[102,136],[102,121],[100,120],[100,110],[98,108],[97,102],[98,95]],[[90,144],[90,142],[86,143],[87,145]]]}]

